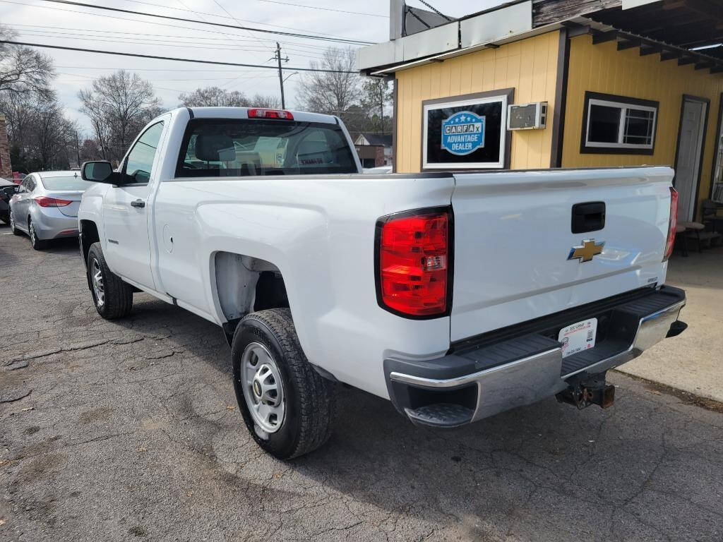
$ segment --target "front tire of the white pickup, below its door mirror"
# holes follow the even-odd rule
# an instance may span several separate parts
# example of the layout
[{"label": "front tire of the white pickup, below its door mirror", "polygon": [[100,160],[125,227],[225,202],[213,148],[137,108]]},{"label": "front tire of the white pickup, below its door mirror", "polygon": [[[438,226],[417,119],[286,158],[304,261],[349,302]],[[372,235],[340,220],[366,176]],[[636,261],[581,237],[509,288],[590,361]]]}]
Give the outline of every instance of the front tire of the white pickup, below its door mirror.
[{"label": "front tire of the white pickup, below its door mirror", "polygon": [[[98,264],[97,267],[95,262]],[[128,316],[133,306],[133,287],[124,283],[118,275],[108,269],[100,243],[90,245],[86,269],[88,287],[98,314],[106,320]],[[93,270],[100,271],[100,278],[102,278],[100,289],[103,293],[103,299],[100,301],[93,287]]]}]

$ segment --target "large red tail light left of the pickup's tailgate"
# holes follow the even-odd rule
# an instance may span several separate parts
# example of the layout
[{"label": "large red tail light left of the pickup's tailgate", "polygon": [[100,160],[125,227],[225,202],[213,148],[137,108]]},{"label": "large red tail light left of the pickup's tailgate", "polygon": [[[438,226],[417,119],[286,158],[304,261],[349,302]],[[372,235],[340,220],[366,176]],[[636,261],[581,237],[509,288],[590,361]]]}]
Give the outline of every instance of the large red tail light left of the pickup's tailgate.
[{"label": "large red tail light left of the pickup's tailgate", "polygon": [[410,318],[449,314],[452,215],[449,207],[388,215],[377,221],[377,302]]}]

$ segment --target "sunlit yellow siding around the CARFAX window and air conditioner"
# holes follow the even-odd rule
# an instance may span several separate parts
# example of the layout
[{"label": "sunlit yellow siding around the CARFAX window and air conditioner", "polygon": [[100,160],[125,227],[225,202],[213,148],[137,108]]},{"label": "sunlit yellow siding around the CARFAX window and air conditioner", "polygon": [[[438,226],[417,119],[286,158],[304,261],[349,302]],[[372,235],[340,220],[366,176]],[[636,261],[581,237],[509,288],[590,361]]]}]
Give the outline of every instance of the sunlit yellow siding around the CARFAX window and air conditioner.
[{"label": "sunlit yellow siding around the CARFAX window and air conditioner", "polygon": [[422,168],[422,100],[515,89],[514,103],[547,101],[547,129],[508,132],[510,167],[549,167],[559,32],[403,70],[397,77],[396,171]]}]

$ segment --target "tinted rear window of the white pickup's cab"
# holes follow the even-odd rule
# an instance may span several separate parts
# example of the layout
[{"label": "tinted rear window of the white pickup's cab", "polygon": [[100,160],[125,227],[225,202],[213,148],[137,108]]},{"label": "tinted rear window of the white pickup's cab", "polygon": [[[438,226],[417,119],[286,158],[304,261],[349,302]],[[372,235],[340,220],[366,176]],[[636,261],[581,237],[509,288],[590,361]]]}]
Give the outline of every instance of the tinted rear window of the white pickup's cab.
[{"label": "tinted rear window of the white pickup's cab", "polygon": [[177,177],[357,173],[341,126],[254,119],[194,119]]}]

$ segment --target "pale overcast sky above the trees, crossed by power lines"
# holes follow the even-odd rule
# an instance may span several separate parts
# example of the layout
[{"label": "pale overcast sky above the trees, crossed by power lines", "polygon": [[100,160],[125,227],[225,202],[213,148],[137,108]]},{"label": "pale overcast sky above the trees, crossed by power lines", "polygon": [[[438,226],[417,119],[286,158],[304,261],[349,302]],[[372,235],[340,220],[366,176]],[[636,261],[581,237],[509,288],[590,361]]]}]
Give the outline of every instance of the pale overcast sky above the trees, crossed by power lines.
[{"label": "pale overcast sky above the trees, crossed by power lines", "polygon": [[[79,0],[137,12],[156,13],[189,19],[222,22],[231,25],[284,30],[289,32],[334,35],[368,41],[389,38],[389,0]],[[503,0],[432,0],[430,4],[445,14],[460,17],[478,12]],[[281,2],[285,3],[282,4]],[[286,4],[303,4],[291,6]],[[408,5],[423,7],[418,0]],[[317,9],[315,9],[317,8]],[[325,8],[325,9],[322,9]],[[228,10],[232,18],[224,9]],[[351,14],[359,12],[364,14]],[[190,22],[176,22],[134,14],[121,14],[93,8],[56,4],[43,0],[0,0],[0,23],[18,33],[27,43],[48,43],[107,51],[123,51],[187,59],[218,60],[247,64],[266,64],[271,60],[275,41],[280,40],[287,66],[308,66],[325,47],[322,40],[288,38]],[[95,77],[115,69],[129,69],[153,83],[166,108],[178,105],[179,93],[216,85],[255,93],[278,95],[278,73],[273,69],[205,66],[176,61],[136,59],[133,57],[43,49],[55,60],[58,78],[56,90],[67,115],[87,129],[80,113],[78,90]],[[289,70],[285,74],[291,74]],[[296,106],[299,75],[286,82],[287,107]]]}]

